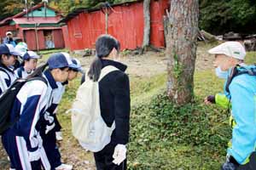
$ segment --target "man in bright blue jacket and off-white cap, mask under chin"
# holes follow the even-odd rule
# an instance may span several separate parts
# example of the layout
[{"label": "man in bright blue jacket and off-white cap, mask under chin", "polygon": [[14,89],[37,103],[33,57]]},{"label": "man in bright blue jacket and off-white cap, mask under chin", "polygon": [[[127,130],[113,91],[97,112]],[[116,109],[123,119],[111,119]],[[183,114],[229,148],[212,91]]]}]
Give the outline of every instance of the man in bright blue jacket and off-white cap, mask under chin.
[{"label": "man in bright blue jacket and off-white cap, mask under chin", "polygon": [[240,42],[224,42],[208,53],[215,54],[215,73],[225,84],[224,94],[210,95],[205,103],[231,108],[232,139],[221,169],[256,169],[256,66],[243,63],[246,51]]}]

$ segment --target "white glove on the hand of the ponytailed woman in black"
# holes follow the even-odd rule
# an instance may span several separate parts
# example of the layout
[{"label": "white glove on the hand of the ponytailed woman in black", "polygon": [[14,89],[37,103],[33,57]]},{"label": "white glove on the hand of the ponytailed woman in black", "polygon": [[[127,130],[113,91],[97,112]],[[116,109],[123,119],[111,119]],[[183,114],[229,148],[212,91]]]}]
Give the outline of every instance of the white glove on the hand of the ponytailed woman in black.
[{"label": "white glove on the hand of the ponytailed woman in black", "polygon": [[126,159],[126,146],[125,144],[117,144],[113,151],[113,163],[120,165]]}]

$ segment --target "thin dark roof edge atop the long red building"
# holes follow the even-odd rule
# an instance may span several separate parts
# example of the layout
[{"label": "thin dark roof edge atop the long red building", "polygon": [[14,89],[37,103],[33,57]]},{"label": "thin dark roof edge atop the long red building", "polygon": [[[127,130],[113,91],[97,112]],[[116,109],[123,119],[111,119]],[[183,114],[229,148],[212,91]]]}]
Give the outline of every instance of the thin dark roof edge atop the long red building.
[{"label": "thin dark roof edge atop the long red building", "polygon": [[[143,2],[143,0],[131,0],[131,1],[128,1],[128,2],[125,2],[125,3],[116,3],[116,4],[113,4],[113,5],[110,5],[111,7],[115,7],[115,6],[124,6],[124,5],[129,5],[131,3],[139,3],[139,2]],[[73,19],[75,16],[77,16],[78,14],[80,13],[90,13],[90,12],[93,12],[93,11],[97,11],[97,10],[101,10],[103,7],[103,5],[101,6],[98,6],[96,8],[75,8],[73,9],[73,11],[69,14],[67,14],[67,16],[65,18],[63,18],[62,20],[60,20],[60,22],[67,22],[68,20],[71,20]]]}]

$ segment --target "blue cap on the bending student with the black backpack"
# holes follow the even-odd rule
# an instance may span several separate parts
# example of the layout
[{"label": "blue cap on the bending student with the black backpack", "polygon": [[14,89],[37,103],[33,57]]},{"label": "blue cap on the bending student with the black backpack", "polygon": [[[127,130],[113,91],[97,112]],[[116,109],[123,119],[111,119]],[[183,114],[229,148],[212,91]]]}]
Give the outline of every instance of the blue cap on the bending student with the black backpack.
[{"label": "blue cap on the bending student with the black backpack", "polygon": [[49,56],[47,63],[49,65],[49,69],[57,69],[69,67],[72,65],[72,60],[67,53],[55,53]]}]

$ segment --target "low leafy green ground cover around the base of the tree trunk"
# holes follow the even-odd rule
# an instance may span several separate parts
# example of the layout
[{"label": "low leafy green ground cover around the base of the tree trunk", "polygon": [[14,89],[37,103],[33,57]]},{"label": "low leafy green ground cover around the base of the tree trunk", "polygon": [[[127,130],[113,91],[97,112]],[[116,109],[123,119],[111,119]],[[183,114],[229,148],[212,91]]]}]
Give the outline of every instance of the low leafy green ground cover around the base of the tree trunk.
[{"label": "low leafy green ground cover around the base of the tree trunk", "polygon": [[218,169],[230,138],[228,116],[199,101],[177,107],[164,93],[133,107],[129,168]]}]

